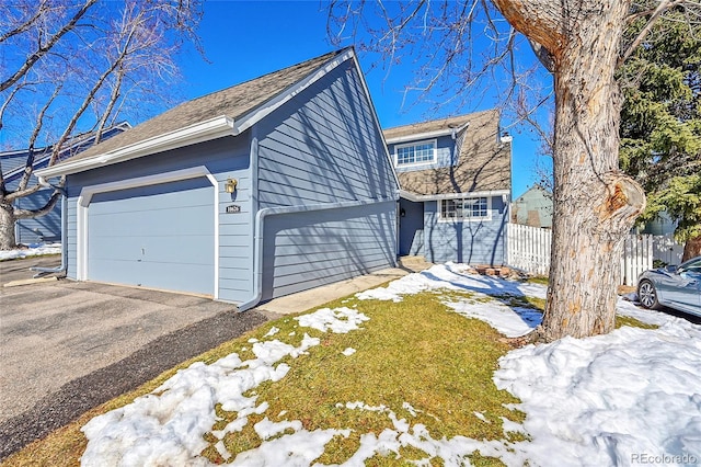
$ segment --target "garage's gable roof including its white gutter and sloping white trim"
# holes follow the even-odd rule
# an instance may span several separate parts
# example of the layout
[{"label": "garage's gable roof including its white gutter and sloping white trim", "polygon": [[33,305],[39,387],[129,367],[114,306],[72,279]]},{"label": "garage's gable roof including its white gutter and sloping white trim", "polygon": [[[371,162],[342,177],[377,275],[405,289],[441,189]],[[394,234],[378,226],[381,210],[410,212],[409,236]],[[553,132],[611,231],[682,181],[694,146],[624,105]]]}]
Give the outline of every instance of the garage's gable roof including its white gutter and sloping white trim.
[{"label": "garage's gable roof including its white gutter and sloping white trim", "polygon": [[41,170],[37,174],[48,178],[76,173],[227,135],[238,135],[354,56],[350,47],[335,50],[184,102],[68,161]]}]

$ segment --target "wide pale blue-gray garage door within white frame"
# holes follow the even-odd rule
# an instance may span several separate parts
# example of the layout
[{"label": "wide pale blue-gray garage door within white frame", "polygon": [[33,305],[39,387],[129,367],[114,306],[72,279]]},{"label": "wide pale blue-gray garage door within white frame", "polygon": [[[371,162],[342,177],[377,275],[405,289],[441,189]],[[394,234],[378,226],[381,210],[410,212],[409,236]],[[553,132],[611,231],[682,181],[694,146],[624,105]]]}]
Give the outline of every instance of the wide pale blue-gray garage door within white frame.
[{"label": "wide pale blue-gray garage door within white frame", "polygon": [[205,178],[95,194],[88,278],[214,294],[214,186]]}]

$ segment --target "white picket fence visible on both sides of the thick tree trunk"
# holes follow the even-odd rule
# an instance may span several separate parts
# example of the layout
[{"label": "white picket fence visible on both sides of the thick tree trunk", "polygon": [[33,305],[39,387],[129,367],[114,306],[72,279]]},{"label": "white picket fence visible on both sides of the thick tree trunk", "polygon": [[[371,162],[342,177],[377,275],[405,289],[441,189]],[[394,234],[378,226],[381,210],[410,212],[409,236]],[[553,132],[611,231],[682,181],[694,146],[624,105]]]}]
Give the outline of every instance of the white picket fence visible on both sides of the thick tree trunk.
[{"label": "white picket fence visible on both sides of the thick tree trunk", "polygon": [[[509,224],[507,229],[508,264],[531,274],[548,275],[552,231]],[[621,280],[635,285],[637,275],[653,267],[653,236],[630,235],[621,255]]]}]

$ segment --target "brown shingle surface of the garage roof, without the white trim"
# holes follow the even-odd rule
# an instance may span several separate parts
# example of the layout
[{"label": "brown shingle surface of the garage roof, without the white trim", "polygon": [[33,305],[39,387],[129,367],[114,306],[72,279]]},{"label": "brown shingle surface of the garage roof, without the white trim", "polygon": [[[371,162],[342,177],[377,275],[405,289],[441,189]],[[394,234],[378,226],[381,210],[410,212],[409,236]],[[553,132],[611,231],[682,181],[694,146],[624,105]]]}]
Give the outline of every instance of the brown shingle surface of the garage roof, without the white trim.
[{"label": "brown shingle surface of the garage roof, without the white trim", "polygon": [[[301,81],[323,64],[345,50],[336,50],[311,60],[274,71],[251,81],[184,102],[128,132],[116,135],[70,159],[85,159],[110,152],[191,125],[226,115],[234,121]],[[58,164],[57,164],[58,166]]]}]

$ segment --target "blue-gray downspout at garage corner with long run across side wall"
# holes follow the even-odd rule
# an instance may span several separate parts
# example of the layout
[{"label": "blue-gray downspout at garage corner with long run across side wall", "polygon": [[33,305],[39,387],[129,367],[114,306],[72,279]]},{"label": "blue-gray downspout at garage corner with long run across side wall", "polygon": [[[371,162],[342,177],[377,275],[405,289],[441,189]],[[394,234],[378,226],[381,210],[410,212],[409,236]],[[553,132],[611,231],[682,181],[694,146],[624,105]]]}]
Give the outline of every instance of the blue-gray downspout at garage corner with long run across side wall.
[{"label": "blue-gray downspout at garage corner with long run across side wall", "polygon": [[[257,166],[257,163],[256,163]],[[382,197],[382,198],[372,198],[372,200],[359,200],[359,201],[347,201],[340,203],[323,203],[323,204],[309,204],[309,205],[297,205],[297,206],[284,206],[284,207],[265,207],[263,209],[258,209],[255,215],[255,237],[254,237],[254,246],[253,246],[253,297],[239,305],[239,311],[245,311],[255,307],[263,296],[263,229],[265,225],[265,218],[268,216],[274,216],[278,214],[294,214],[294,213],[304,213],[310,210],[326,210],[326,209],[340,209],[344,207],[355,207],[355,206],[364,206],[367,204],[375,203],[387,203],[390,201],[397,201],[393,197]]]}]

